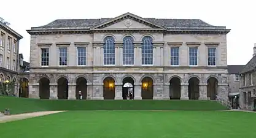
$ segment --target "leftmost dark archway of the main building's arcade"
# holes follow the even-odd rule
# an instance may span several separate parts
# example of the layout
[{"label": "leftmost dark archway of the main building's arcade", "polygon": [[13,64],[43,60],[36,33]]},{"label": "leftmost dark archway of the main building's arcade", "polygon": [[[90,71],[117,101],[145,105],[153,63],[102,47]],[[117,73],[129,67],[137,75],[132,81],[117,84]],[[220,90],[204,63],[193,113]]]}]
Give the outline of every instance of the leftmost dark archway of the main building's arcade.
[{"label": "leftmost dark archway of the main building's arcade", "polygon": [[39,97],[40,99],[50,98],[50,80],[46,77],[39,80]]}]

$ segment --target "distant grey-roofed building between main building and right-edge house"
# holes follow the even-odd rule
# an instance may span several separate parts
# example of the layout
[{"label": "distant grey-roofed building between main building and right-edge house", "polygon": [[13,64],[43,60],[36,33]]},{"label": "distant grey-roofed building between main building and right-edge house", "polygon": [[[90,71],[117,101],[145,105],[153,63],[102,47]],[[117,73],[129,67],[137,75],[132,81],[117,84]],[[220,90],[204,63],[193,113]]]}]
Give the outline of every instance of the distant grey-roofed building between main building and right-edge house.
[{"label": "distant grey-roofed building between main building and right-edge house", "polygon": [[239,107],[239,73],[243,68],[244,65],[228,65],[228,98],[233,109],[237,109]]}]

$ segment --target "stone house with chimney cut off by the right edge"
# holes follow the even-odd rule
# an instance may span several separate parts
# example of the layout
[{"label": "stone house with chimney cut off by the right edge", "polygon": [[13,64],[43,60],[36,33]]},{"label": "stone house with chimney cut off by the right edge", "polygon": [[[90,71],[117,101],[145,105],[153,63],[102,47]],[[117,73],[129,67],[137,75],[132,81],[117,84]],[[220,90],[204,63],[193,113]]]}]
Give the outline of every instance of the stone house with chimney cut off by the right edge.
[{"label": "stone house with chimney cut off by the right edge", "polygon": [[240,106],[247,110],[256,108],[256,44],[252,59],[240,72]]}]

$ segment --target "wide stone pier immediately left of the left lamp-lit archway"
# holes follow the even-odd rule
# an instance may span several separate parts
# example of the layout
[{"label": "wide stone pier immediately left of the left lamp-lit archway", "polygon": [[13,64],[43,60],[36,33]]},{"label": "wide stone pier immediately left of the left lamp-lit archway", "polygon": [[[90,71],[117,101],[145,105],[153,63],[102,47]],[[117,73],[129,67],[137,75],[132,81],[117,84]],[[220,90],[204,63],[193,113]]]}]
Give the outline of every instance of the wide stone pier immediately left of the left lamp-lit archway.
[{"label": "wide stone pier immediately left of the left lamp-lit archway", "polygon": [[103,86],[104,83],[93,83],[93,96],[91,96],[91,99],[95,100],[103,100]]}]

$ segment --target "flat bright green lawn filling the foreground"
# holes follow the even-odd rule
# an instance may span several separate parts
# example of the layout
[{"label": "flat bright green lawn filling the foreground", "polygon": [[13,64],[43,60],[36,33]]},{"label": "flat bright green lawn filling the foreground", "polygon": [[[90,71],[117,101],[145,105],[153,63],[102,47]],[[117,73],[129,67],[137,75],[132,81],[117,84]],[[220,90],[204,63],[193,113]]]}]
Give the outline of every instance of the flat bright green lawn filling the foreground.
[{"label": "flat bright green lawn filling the foreground", "polygon": [[69,111],[0,123],[13,138],[255,138],[256,114],[219,111]]}]

